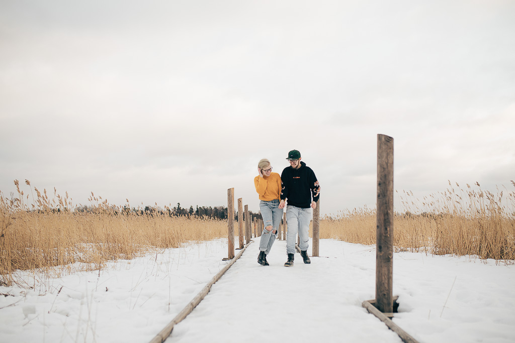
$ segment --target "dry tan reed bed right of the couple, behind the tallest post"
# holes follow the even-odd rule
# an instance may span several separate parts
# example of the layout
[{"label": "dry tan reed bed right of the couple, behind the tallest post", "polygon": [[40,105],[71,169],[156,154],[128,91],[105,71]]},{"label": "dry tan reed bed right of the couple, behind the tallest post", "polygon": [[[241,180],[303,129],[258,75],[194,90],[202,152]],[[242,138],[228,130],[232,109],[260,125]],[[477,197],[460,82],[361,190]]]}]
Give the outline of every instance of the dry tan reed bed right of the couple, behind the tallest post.
[{"label": "dry tan reed bed right of the couple, behind the tallest post", "polygon": [[[513,186],[515,182],[511,181]],[[413,192],[400,196],[401,213],[393,219],[396,250],[431,254],[470,255],[515,263],[515,193],[497,189],[494,194],[456,184],[443,193],[423,197]],[[375,209],[353,209],[325,216],[320,238],[375,244]]]}]

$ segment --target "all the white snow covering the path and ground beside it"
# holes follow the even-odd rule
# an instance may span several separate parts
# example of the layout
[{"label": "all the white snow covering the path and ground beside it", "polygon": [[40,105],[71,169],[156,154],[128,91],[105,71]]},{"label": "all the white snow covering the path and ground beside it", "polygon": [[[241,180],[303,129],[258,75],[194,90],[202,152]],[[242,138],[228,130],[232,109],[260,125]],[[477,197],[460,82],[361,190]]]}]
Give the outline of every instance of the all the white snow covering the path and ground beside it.
[{"label": "all the white snow covering the path and ground beside it", "polygon": [[[297,254],[286,268],[285,245],[276,241],[265,267],[250,244],[167,343],[401,341],[361,306],[375,297],[374,246],[321,240],[324,257],[304,265]],[[46,278],[33,290],[0,287],[0,342],[147,343],[222,257],[227,240]],[[515,265],[399,252],[393,271],[393,321],[420,342],[515,342]]]}]

